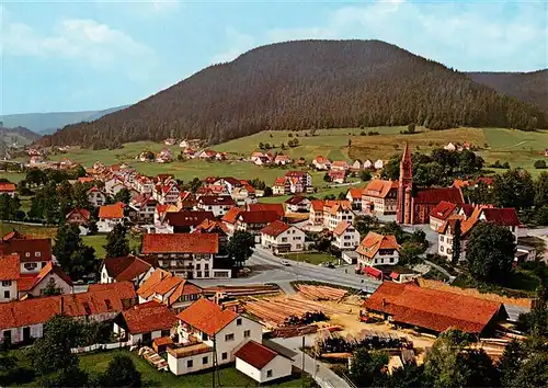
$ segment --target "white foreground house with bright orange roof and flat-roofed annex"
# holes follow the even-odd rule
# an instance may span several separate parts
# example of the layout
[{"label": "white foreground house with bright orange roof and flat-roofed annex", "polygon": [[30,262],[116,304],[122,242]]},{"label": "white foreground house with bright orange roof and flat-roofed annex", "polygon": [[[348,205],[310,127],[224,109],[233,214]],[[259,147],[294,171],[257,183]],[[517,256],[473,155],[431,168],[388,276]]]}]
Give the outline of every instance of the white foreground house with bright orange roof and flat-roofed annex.
[{"label": "white foreground house with bright orange roof and flat-roofed annex", "polygon": [[262,342],[260,323],[205,298],[176,317],[180,343],[168,350],[168,364],[175,375],[212,368],[214,357],[217,365],[233,363],[246,342]]}]

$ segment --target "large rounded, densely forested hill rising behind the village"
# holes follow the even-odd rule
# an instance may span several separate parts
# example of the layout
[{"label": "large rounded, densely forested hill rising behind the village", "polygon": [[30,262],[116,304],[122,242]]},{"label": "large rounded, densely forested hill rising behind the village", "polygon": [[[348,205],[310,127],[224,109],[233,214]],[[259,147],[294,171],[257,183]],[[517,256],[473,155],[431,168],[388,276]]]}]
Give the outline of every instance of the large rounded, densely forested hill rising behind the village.
[{"label": "large rounded, densely forested hill rising behind the village", "polygon": [[379,41],[262,46],[208,67],[126,110],[69,125],[44,145],[116,147],[167,137],[217,144],[264,129],[416,123],[530,129],[538,109]]}]

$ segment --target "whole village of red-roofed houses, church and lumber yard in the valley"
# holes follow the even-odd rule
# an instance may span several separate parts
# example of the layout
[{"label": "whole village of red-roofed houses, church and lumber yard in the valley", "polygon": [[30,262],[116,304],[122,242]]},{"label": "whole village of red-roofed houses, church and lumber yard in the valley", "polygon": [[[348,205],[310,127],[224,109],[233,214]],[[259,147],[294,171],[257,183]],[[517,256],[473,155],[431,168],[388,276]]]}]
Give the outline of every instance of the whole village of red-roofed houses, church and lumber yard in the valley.
[{"label": "whole village of red-roofed houses, church and lumber yard in the valley", "polygon": [[[181,144],[189,157],[196,146]],[[449,142],[444,150],[469,148]],[[30,151],[27,168],[50,169],[39,166],[36,153]],[[196,153],[226,158],[207,149],[192,157]],[[170,158],[163,152],[137,159]],[[540,246],[527,243],[538,238],[532,240],[516,208],[467,201],[466,190],[489,189],[493,178],[416,189],[407,145],[395,180],[383,178],[384,160],[317,156],[308,162],[255,151],[246,162],[285,169],[267,185],[207,176],[189,186],[169,173],[147,176],[127,163],[98,161],[67,181],[85,202],[66,212],[67,227],[77,236],[106,235],[113,241],[124,241],[127,231],[137,236],[139,248],[122,250],[123,255],[107,252],[98,258],[94,275],[75,276],[72,264],[54,254],[59,238],[4,233],[2,341],[28,346],[62,316],[109,328],[101,342],[75,346],[75,354],[125,347],[150,368],[176,376],[215,374],[231,365],[265,384],[290,380],[302,369],[322,387],[343,387],[353,383],[341,370],[362,346],[386,350],[390,374],[423,364],[436,336],[448,329],[471,335],[493,362],[512,339],[525,338],[517,323],[521,313],[535,308],[533,297],[450,285],[475,254],[489,250],[477,248],[487,235],[476,235],[484,227],[507,232],[512,247],[504,276],[546,261]],[[76,166],[67,160],[56,168]],[[363,171],[368,179],[339,197],[318,198],[311,171],[324,171],[324,180],[335,184]],[[10,182],[0,183],[0,192],[13,201],[19,195]],[[288,198],[262,202],[282,195]],[[305,345],[295,341],[300,338]]]}]

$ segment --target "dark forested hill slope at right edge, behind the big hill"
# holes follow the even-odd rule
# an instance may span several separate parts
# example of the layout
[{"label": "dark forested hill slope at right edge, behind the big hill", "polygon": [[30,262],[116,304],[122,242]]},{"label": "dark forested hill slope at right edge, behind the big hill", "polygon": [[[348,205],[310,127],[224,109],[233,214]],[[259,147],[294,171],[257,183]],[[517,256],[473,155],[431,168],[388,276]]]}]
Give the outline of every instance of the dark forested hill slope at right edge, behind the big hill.
[{"label": "dark forested hill slope at right edge, behind the big hill", "polygon": [[530,72],[467,72],[467,76],[548,112],[548,69]]}]

